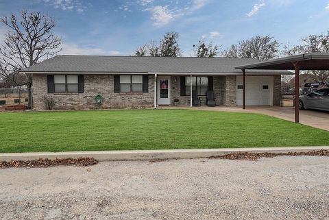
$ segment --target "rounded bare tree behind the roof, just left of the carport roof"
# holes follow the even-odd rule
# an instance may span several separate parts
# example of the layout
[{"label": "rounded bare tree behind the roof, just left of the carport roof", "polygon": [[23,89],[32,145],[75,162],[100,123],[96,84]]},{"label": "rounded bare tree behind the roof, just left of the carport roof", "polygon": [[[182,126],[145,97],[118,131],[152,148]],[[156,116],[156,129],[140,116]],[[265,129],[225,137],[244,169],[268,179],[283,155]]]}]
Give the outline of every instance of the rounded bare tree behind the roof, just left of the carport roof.
[{"label": "rounded bare tree behind the roof, just left of the carport roof", "polygon": [[223,50],[221,55],[229,58],[256,58],[270,60],[278,56],[279,42],[272,36],[254,36],[249,40],[241,40],[236,45]]}]

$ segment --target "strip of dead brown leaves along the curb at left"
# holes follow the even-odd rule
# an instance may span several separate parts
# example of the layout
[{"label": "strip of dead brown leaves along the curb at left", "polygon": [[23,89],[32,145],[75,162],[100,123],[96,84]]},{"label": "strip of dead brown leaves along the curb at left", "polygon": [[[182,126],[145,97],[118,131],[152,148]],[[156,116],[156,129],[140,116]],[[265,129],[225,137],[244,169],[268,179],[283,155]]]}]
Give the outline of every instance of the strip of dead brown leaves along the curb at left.
[{"label": "strip of dead brown leaves along the curb at left", "polygon": [[38,160],[11,160],[0,161],[0,168],[10,168],[10,167],[56,167],[56,166],[77,166],[77,167],[87,167],[91,165],[98,164],[95,158],[66,158],[66,159],[38,159]]}]

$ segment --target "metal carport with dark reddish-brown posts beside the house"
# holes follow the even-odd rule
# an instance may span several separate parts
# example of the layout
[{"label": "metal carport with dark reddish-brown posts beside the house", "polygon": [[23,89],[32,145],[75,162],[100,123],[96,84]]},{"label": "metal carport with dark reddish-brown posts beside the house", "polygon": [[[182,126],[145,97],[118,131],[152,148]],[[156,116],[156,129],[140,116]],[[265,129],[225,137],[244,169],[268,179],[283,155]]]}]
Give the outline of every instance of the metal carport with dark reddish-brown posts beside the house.
[{"label": "metal carport with dark reddish-brown posts beside the house", "polygon": [[263,69],[263,70],[295,70],[295,123],[300,122],[300,71],[304,70],[329,70],[329,53],[305,53],[286,58],[278,58],[236,66],[235,69],[241,69],[243,73],[243,109],[245,109],[245,70]]}]

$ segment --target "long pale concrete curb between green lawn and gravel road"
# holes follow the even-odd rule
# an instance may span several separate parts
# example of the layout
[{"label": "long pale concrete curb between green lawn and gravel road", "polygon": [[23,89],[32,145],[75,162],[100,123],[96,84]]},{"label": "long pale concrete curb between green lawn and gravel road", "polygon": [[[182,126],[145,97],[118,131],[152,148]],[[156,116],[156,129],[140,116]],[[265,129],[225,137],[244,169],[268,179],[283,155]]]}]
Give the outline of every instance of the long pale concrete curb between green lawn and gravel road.
[{"label": "long pale concrete curb between green lawn and gravel road", "polygon": [[252,147],[252,148],[221,148],[221,149],[163,149],[163,150],[132,150],[132,151],[68,151],[39,153],[6,153],[0,154],[0,161],[10,160],[50,160],[64,158],[95,158],[98,161],[119,160],[163,160],[183,158],[209,158],[239,152],[252,153],[288,153],[307,152],[320,149],[329,150],[329,146],[320,147]]}]

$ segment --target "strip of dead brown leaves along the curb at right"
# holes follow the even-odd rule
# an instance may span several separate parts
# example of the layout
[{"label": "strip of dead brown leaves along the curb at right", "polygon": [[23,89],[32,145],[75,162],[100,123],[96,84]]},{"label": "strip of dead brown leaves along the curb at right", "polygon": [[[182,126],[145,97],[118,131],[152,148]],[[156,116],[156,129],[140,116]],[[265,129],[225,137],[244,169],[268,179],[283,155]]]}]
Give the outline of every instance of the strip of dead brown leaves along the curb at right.
[{"label": "strip of dead brown leaves along the curb at right", "polygon": [[307,152],[288,152],[288,153],[251,153],[251,152],[239,152],[226,154],[223,156],[213,156],[210,159],[220,158],[228,160],[258,160],[259,158],[273,158],[276,156],[329,156],[329,151],[321,149],[318,151]]}]

